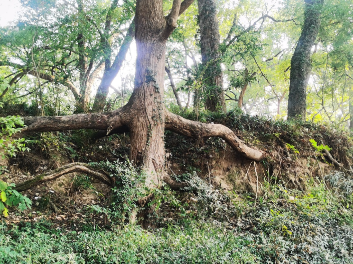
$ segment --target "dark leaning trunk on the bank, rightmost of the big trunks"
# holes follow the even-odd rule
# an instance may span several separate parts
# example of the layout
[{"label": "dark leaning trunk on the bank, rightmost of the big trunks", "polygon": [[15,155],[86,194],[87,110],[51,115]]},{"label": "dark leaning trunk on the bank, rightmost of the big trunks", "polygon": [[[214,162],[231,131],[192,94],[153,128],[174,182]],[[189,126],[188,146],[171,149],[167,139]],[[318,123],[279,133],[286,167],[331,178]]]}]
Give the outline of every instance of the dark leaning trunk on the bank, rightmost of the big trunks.
[{"label": "dark leaning trunk on the bank, rightmost of the big trunks", "polygon": [[320,28],[323,0],[305,0],[304,24],[290,63],[288,118],[305,120],[311,48]]}]

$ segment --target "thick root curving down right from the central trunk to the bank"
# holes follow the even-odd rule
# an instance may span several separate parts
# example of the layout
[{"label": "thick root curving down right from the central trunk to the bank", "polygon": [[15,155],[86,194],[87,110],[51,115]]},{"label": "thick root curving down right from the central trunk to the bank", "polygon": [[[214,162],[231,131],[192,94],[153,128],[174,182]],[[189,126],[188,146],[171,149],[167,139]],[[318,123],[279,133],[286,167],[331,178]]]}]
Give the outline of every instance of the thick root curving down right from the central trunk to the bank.
[{"label": "thick root curving down right from the central trunk to the bank", "polygon": [[232,148],[247,158],[260,161],[264,157],[262,151],[247,146],[230,128],[222,124],[207,124],[191,121],[166,111],[165,129],[194,138],[218,136],[223,138]]}]

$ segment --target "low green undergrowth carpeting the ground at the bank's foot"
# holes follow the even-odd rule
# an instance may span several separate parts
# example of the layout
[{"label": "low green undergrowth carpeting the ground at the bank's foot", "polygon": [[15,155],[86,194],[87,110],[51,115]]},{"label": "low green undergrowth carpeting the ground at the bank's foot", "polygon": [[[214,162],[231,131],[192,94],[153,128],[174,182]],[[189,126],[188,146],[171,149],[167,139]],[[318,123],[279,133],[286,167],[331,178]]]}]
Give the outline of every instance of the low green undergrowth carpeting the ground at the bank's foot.
[{"label": "low green undergrowth carpeting the ground at the bank's foot", "polygon": [[[341,182],[334,177],[327,179]],[[172,222],[148,230],[121,222],[81,231],[46,221],[4,223],[0,263],[353,263],[353,199],[341,184],[329,191],[322,183],[305,193],[267,185],[256,202],[233,193],[203,214],[195,213],[201,206],[190,205]],[[197,194],[194,189],[197,200],[216,202],[221,195],[201,188]],[[221,206],[231,210],[227,220],[215,213]]]}]

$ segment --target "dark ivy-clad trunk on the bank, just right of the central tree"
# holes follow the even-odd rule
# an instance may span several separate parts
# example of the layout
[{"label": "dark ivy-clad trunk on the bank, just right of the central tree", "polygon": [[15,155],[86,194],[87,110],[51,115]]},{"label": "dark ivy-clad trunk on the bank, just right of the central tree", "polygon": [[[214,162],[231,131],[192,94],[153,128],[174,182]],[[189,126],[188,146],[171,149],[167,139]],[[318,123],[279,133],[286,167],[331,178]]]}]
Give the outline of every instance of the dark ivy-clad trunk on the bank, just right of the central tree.
[{"label": "dark ivy-clad trunk on the bank, just right of the central tree", "polygon": [[215,0],[199,0],[201,55],[205,70],[206,109],[225,111],[223,73],[220,61],[220,32]]}]

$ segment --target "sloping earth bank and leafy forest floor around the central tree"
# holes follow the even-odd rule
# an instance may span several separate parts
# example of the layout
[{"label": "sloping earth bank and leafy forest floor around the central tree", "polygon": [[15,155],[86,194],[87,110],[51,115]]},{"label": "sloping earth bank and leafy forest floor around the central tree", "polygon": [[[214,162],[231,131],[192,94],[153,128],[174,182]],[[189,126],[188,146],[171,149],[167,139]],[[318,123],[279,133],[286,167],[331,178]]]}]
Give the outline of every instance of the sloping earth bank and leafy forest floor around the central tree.
[{"label": "sloping earth bank and leafy forest floor around the central tree", "polygon": [[[189,117],[190,118],[190,117]],[[189,183],[152,190],[154,228],[135,218],[136,171],[128,135],[95,142],[86,130],[28,135],[31,152],[9,160],[1,179],[21,182],[72,161],[112,166],[111,190],[74,173],[25,191],[32,208],[11,208],[0,225],[0,263],[353,263],[353,177],[347,133],[258,117],[206,116],[268,153],[254,163],[220,139],[166,132],[169,172]],[[186,158],[187,157],[187,158]]]}]

